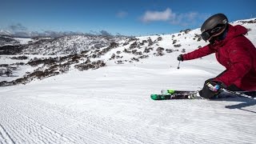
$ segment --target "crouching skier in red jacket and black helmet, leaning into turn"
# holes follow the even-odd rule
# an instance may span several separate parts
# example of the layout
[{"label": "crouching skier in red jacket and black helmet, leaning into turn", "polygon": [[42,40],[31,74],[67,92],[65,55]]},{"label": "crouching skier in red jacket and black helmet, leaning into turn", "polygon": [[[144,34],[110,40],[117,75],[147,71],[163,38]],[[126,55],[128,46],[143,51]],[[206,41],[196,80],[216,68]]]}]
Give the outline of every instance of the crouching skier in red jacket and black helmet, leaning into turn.
[{"label": "crouching skier in red jacket and black helmet, leaning into turn", "polygon": [[244,34],[243,26],[231,26],[225,14],[214,14],[202,24],[201,37],[208,45],[178,56],[178,61],[202,58],[215,53],[226,70],[206,80],[199,94],[213,98],[222,88],[231,91],[256,90],[256,48]]}]

